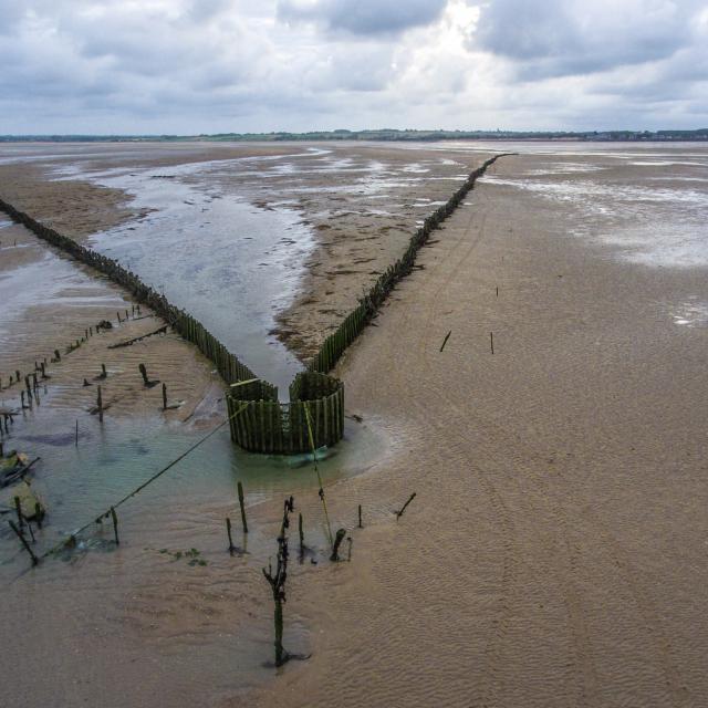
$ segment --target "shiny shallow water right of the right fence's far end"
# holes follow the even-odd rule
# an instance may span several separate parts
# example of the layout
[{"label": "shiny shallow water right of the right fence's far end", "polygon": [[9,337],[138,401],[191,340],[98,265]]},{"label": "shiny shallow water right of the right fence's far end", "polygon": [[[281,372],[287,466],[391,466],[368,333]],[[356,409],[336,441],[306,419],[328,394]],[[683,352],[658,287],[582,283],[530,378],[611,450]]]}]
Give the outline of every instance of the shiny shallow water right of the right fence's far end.
[{"label": "shiny shallow water right of the right fence's far end", "polygon": [[[485,184],[532,191],[570,207],[572,235],[608,244],[617,258],[652,268],[708,266],[708,147],[616,144],[509,145],[513,178]],[[569,160],[559,159],[568,156]],[[583,162],[577,158],[582,157]]]}]

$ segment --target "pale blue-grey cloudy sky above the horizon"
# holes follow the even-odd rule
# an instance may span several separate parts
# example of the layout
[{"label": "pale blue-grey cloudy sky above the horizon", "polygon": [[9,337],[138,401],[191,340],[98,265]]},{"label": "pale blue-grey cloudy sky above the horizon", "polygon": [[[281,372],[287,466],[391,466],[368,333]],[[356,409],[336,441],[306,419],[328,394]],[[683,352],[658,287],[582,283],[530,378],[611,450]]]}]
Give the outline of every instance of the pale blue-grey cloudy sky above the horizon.
[{"label": "pale blue-grey cloudy sky above the horizon", "polygon": [[0,0],[0,134],[706,126],[706,0]]}]

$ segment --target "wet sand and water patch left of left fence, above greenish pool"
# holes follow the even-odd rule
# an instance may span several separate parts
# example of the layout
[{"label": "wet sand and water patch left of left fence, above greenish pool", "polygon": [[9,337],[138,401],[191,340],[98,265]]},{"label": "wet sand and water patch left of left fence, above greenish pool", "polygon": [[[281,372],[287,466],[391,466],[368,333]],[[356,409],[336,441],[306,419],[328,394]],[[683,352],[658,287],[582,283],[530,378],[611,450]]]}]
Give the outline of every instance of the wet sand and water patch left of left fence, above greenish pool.
[{"label": "wet sand and water patch left of left fence, above greenish pool", "polygon": [[[126,321],[125,312],[133,305],[118,287],[50,249],[22,226],[0,229],[0,254],[1,287],[8,289],[0,324],[4,342],[0,351],[1,407],[21,410],[24,382],[14,381],[10,386],[10,376],[14,377],[15,371],[22,377],[31,375],[35,362],[46,358],[50,378],[42,382],[40,377],[41,403],[34,417],[55,409],[73,420],[95,406],[98,384],[106,416],[164,415],[168,420],[187,420],[200,405],[214,408],[206,418],[216,414],[216,404],[205,405],[205,399],[222,396],[222,386],[211,374],[210,362],[177,334],[167,332],[132,346],[108,348],[165,326],[147,308],[142,309],[140,319],[132,313]],[[113,329],[90,336],[66,353],[71,344],[85,337],[88,327],[95,332],[102,320],[110,321]],[[54,350],[61,361],[50,363]],[[140,363],[150,378],[167,385],[168,404],[176,405],[174,409],[162,412],[162,387],[145,388],[138,373]],[[101,364],[108,372],[105,381],[96,378]],[[83,385],[84,378],[88,386]],[[15,425],[21,426],[22,420]]]}]

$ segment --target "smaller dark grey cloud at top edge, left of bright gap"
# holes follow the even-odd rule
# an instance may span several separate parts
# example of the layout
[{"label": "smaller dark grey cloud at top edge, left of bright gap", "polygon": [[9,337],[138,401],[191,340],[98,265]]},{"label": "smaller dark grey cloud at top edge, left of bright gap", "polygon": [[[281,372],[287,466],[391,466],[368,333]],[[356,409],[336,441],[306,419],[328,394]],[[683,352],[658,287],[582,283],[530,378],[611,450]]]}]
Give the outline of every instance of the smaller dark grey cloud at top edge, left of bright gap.
[{"label": "smaller dark grey cloud at top edge, left of bright gap", "polygon": [[386,34],[429,24],[446,4],[447,0],[279,0],[278,17],[352,34]]}]

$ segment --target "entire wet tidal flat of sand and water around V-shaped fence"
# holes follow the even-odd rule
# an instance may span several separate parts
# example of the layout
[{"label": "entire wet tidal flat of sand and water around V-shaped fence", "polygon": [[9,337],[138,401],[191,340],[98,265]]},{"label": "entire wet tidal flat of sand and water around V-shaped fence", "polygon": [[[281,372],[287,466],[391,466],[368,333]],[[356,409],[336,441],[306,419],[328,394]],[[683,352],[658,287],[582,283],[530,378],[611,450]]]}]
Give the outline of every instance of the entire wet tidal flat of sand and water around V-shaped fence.
[{"label": "entire wet tidal flat of sand and water around V-shaped fence", "polygon": [[[2,618],[14,641],[2,660],[19,652],[33,677],[11,684],[9,700],[267,706],[285,691],[292,705],[366,695],[384,706],[405,690],[460,706],[700,705],[704,146],[2,146],[0,196],[129,263],[282,386],[435,205],[500,152],[518,154],[479,181],[339,365],[362,423],[347,418],[322,468],[352,562],[326,562],[310,466],[215,435],[125,506],[119,550],[108,525],[28,572],[3,532]],[[3,382],[129,308],[4,221],[0,258]],[[128,374],[153,356],[175,398],[191,402],[188,419],[140,392],[100,428],[81,378],[102,354],[87,345],[58,375],[61,391],[50,379],[46,400],[14,424],[10,444],[42,454],[40,542],[91,519],[223,415],[209,363],[169,336],[115,366]],[[14,405],[10,392],[1,399]],[[252,531],[237,539],[248,554],[230,556],[237,479]],[[319,563],[293,566],[285,642],[313,656],[274,679],[260,568],[290,493]]]}]

